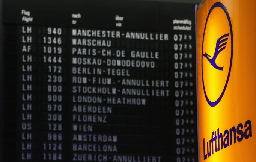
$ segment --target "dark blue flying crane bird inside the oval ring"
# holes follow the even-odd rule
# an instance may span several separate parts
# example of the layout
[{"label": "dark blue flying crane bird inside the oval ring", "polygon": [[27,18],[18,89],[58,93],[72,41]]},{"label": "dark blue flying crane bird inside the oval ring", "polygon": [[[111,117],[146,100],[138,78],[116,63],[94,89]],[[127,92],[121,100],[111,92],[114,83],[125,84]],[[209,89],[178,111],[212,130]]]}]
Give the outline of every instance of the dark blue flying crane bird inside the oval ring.
[{"label": "dark blue flying crane bird inside the oval ring", "polygon": [[212,58],[210,58],[211,56],[208,55],[206,52],[205,52],[205,54],[203,54],[203,56],[205,58],[207,58],[207,60],[211,63],[211,65],[215,69],[223,70],[223,67],[220,67],[216,64],[216,58],[218,57],[220,52],[223,51],[226,48],[228,36],[229,36],[229,33],[224,34],[223,36],[219,37],[219,39],[217,39],[215,52],[214,52],[214,55],[212,56]]}]

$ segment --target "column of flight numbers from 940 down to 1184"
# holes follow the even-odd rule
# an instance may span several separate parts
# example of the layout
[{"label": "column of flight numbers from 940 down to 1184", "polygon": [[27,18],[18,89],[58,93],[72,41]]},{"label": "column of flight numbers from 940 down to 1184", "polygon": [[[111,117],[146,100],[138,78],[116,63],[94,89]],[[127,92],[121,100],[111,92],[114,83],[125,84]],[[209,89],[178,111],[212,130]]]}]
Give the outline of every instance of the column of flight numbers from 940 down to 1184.
[{"label": "column of flight numbers from 940 down to 1184", "polygon": [[43,125],[45,141],[42,142],[42,160],[63,161],[63,102],[65,101],[65,83],[63,76],[63,55],[65,39],[62,28],[43,27],[41,43],[43,62]]}]

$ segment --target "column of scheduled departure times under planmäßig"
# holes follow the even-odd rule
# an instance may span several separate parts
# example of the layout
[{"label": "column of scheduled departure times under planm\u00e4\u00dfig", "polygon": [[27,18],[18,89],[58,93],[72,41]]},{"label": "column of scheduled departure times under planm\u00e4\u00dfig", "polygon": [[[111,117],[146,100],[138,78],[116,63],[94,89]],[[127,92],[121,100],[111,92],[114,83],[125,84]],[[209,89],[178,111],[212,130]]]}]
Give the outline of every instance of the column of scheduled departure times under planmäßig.
[{"label": "column of scheduled departure times under planm\u00e4\u00dfig", "polygon": [[176,162],[195,162],[196,153],[196,91],[195,54],[190,33],[173,34],[174,96],[176,126]]}]

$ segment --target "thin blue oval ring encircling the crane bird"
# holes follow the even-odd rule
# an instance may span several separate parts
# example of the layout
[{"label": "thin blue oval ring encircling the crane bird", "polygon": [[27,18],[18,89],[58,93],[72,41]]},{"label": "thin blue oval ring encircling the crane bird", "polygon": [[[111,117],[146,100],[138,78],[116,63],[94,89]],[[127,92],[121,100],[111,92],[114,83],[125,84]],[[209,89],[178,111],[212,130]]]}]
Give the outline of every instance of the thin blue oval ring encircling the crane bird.
[{"label": "thin blue oval ring encircling the crane bird", "polygon": [[[209,15],[211,14],[212,10],[213,10],[215,7],[220,7],[221,9],[223,9],[223,11],[226,13],[227,20],[229,21],[230,35],[231,35],[231,57],[230,57],[229,73],[228,73],[228,75],[227,75],[227,80],[226,80],[224,89],[223,89],[223,91],[221,92],[220,97],[219,97],[216,101],[212,102],[212,101],[209,100],[209,98],[208,98],[208,96],[207,96],[207,94],[206,94],[206,91],[205,91],[205,84],[204,84],[204,81],[203,81],[203,92],[205,93],[206,101],[208,102],[208,104],[209,104],[211,107],[215,107],[215,106],[220,102],[221,98],[223,97],[223,95],[224,95],[224,93],[225,93],[225,90],[226,90],[226,88],[227,88],[227,83],[229,82],[229,77],[230,77],[230,72],[231,72],[231,66],[232,66],[232,58],[233,58],[233,30],[232,30],[231,20],[230,20],[229,13],[227,12],[226,7],[225,7],[222,3],[220,3],[220,2],[214,3],[214,5],[212,5],[211,9],[209,10],[209,13],[208,13],[208,15],[207,15],[206,22],[205,22],[205,28],[204,28],[204,30],[203,30],[203,41],[204,41],[204,38],[205,38],[205,29],[206,29],[206,24],[207,24]],[[203,44],[202,44],[202,80],[203,80]]]}]

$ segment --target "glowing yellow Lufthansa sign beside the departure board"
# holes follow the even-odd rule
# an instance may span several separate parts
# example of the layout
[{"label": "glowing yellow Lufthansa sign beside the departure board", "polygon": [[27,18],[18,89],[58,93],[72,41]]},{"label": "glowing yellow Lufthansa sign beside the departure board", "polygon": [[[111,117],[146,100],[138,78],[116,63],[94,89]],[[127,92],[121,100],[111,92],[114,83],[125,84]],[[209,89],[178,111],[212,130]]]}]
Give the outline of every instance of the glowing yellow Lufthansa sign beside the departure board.
[{"label": "glowing yellow Lufthansa sign beside the departure board", "polygon": [[197,10],[200,162],[256,160],[256,1]]}]

